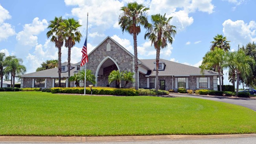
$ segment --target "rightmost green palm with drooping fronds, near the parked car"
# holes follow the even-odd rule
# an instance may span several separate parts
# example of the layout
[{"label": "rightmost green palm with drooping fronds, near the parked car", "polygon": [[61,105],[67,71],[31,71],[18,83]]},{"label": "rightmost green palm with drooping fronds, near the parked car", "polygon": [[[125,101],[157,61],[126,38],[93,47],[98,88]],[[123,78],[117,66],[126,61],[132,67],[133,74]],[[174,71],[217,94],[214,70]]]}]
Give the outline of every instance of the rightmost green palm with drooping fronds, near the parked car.
[{"label": "rightmost green palm with drooping fronds, near the parked car", "polygon": [[[254,68],[255,61],[252,57],[245,55],[245,52],[240,49],[234,57],[234,62],[236,64],[235,68],[237,74],[236,94],[238,94],[240,77],[245,79],[252,75],[252,67]],[[252,64],[252,67],[250,64]]]}]

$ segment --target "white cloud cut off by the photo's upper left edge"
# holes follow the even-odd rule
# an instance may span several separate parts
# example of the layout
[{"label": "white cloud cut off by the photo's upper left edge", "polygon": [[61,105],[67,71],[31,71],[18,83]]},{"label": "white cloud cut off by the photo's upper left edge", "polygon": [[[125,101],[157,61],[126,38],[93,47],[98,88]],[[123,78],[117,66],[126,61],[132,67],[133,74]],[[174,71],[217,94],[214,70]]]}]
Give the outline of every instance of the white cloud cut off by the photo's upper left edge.
[{"label": "white cloud cut off by the photo's upper left edge", "polygon": [[8,37],[15,35],[15,30],[11,24],[4,21],[10,19],[9,11],[0,5],[0,41],[6,40]]}]

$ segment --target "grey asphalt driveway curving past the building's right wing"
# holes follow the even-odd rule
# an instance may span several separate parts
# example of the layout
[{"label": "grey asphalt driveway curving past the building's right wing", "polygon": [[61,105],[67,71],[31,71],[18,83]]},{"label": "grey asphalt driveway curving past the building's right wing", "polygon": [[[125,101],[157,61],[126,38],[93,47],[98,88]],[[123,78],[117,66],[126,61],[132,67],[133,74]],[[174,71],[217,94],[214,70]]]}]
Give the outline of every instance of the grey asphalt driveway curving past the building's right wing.
[{"label": "grey asphalt driveway curving past the building's right wing", "polygon": [[203,95],[189,95],[189,94],[177,94],[177,93],[170,93],[171,96],[178,96],[178,97],[190,97],[190,98],[202,98],[205,100],[214,100],[218,102],[225,102],[225,103],[232,103],[235,105],[241,105],[243,107],[248,107],[256,111],[256,99],[252,98],[228,98],[224,96],[203,96]]}]

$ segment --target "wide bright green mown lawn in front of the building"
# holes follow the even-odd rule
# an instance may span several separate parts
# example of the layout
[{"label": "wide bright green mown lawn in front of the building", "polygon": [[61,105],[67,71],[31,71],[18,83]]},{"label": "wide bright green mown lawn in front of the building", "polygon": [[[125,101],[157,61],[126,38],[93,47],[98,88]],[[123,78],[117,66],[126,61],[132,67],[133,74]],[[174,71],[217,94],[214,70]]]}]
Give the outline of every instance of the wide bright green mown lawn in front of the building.
[{"label": "wide bright green mown lawn in front of the building", "polygon": [[256,112],[197,98],[0,92],[0,135],[256,133]]}]

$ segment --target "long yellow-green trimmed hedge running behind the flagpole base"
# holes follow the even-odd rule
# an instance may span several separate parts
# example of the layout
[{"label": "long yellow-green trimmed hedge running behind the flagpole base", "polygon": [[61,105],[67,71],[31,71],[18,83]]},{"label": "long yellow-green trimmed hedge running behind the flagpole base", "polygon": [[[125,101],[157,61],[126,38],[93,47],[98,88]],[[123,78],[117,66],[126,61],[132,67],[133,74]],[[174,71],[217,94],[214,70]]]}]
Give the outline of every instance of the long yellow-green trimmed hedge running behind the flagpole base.
[{"label": "long yellow-green trimmed hedge running behind the flagpole base", "polygon": [[[51,92],[55,93],[67,93],[67,94],[83,94],[84,88],[73,87],[73,88],[51,88]],[[89,87],[85,88],[85,94],[91,94],[91,89]],[[117,88],[105,88],[105,87],[94,87],[93,94],[100,95],[121,95],[121,96],[138,96],[139,91],[135,89],[117,89]]]}]

